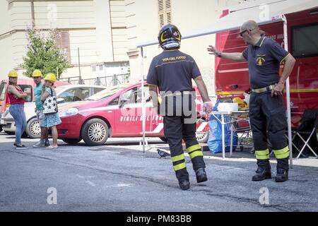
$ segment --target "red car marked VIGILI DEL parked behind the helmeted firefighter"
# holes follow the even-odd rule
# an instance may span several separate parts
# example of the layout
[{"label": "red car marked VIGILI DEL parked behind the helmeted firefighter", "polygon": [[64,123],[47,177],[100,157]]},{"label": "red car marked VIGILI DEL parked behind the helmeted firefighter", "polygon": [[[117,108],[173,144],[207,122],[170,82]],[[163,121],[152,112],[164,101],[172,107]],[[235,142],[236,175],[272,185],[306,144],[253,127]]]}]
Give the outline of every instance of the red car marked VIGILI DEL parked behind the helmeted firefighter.
[{"label": "red car marked VIGILI DEL parked behind the helmeted firefighter", "polygon": [[[199,115],[201,96],[197,88],[194,89],[198,112],[196,135],[199,142],[206,143],[208,122]],[[148,85],[145,85],[145,96],[149,96]],[[159,137],[165,141],[163,117],[151,106],[152,100],[148,99],[146,136]],[[66,143],[78,143],[83,139],[86,145],[103,145],[109,137],[141,137],[141,111],[141,82],[107,88],[88,100],[73,102],[59,109],[62,121],[57,126],[59,139]]]}]

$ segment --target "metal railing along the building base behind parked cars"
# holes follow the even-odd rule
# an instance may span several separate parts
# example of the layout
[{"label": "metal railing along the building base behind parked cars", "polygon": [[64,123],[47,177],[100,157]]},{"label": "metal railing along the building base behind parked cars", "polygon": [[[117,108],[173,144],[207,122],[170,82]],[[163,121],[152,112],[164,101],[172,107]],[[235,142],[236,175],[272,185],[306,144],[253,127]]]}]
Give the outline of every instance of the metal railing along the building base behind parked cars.
[{"label": "metal railing along the building base behind parked cars", "polygon": [[129,82],[129,73],[115,74],[113,76],[103,76],[97,78],[81,78],[80,76],[74,76],[69,78],[60,78],[60,81],[64,81],[73,85],[85,84],[85,85],[102,85],[102,86],[114,86],[122,83]]}]

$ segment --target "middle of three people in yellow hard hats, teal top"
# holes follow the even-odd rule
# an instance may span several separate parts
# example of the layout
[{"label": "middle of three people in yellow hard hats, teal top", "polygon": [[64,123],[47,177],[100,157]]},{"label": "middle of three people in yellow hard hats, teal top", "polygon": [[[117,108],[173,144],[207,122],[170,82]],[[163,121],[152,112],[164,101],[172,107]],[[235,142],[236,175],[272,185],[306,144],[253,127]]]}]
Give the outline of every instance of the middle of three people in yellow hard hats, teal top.
[{"label": "middle of three people in yellow hard hats, teal top", "polygon": [[33,148],[41,148],[49,146],[49,138],[48,138],[48,130],[44,125],[45,122],[45,114],[43,114],[43,103],[41,101],[42,97],[42,86],[44,86],[41,82],[42,73],[40,70],[35,69],[33,71],[33,81],[35,83],[34,88],[34,96],[35,96],[35,113],[37,114],[37,121],[39,121],[41,127],[41,138],[40,141],[33,145]]}]

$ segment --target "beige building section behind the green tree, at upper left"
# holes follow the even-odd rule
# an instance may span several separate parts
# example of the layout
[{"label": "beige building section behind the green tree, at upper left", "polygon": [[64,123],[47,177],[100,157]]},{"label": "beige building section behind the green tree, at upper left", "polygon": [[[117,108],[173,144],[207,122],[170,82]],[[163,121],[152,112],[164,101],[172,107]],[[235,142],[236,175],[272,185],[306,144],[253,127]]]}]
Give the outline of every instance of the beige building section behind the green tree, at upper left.
[{"label": "beige building section behind the green tree, at upper left", "polygon": [[[28,40],[25,29],[59,32],[59,46],[72,65],[63,77],[110,76],[129,71],[125,1],[122,0],[1,0],[0,78],[20,71]],[[20,72],[19,72],[20,73]]]}]

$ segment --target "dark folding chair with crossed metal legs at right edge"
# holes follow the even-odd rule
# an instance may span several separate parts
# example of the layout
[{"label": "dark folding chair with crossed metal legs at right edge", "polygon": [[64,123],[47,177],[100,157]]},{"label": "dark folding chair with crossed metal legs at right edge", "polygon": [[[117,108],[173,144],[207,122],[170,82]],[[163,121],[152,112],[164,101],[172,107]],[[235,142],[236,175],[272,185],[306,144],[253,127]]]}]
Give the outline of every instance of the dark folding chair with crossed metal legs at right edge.
[{"label": "dark folding chair with crossed metal legs at right edge", "polygon": [[[313,148],[318,150],[318,141],[317,141],[317,129],[318,129],[318,109],[308,109],[302,115],[300,119],[300,126],[296,131],[293,131],[292,143],[295,150],[298,150],[298,156],[300,155],[306,157],[303,154],[305,148],[308,148],[314,156],[318,157]],[[298,141],[296,142],[295,141]],[[311,141],[311,142],[310,142]],[[299,148],[297,144],[302,143]]]}]

